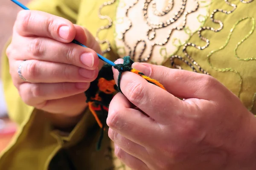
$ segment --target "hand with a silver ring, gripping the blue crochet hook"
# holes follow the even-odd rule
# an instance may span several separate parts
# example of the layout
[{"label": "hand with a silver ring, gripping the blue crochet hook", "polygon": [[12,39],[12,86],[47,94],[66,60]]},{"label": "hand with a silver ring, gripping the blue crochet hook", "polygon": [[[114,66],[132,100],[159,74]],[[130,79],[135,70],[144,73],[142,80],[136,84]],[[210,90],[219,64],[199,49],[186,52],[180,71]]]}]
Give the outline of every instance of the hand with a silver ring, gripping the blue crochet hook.
[{"label": "hand with a silver ring, gripping the blue crochet hook", "polygon": [[[88,48],[70,43],[74,39]],[[52,14],[23,10],[6,54],[12,81],[27,105],[71,118],[87,107],[84,91],[102,65],[95,51],[101,53],[99,44],[85,28]],[[17,72],[21,64],[26,81]]]}]

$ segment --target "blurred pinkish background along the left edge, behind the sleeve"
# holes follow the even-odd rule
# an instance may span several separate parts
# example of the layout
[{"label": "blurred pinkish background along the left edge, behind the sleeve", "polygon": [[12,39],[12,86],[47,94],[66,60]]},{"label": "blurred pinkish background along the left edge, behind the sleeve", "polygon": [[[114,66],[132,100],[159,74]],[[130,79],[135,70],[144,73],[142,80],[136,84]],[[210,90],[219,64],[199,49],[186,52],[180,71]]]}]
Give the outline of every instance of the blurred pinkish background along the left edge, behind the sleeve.
[{"label": "blurred pinkish background along the left edge, behind the sleeve", "polygon": [[[20,0],[27,4],[29,0]],[[12,27],[16,15],[21,8],[11,0],[0,0],[0,57],[3,54],[3,48],[12,35]],[[1,59],[0,59],[1,61]],[[0,63],[1,71],[1,63]],[[9,144],[15,133],[16,125],[8,119],[6,105],[3,97],[3,85],[0,77],[0,152]]]}]

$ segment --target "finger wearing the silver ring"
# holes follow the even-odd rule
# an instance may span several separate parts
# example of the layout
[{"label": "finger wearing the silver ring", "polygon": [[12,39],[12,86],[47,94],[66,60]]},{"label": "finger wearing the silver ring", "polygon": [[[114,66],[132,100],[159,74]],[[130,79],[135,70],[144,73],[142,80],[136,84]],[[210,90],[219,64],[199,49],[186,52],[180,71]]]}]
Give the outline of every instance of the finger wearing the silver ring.
[{"label": "finger wearing the silver ring", "polygon": [[31,83],[92,82],[98,75],[97,68],[88,70],[74,65],[32,59],[15,62],[15,65],[11,66],[12,77],[17,79],[18,84],[24,82],[17,74],[20,64],[22,76]]}]

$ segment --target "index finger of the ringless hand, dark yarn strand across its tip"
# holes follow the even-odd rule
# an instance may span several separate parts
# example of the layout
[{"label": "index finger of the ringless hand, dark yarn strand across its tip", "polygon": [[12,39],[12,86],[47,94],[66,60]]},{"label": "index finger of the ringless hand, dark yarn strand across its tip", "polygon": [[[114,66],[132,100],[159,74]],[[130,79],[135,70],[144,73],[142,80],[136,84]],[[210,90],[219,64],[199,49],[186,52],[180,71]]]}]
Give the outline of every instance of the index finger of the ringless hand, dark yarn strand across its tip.
[{"label": "index finger of the ringless hand, dark yarn strand across its tip", "polygon": [[[120,60],[117,60],[119,62]],[[119,72],[113,69],[117,82]],[[126,71],[121,78],[122,93],[134,105],[159,123],[168,122],[172,114],[184,112],[184,102],[156,85],[148,83],[142,77]],[[161,114],[160,114],[161,113]]]}]

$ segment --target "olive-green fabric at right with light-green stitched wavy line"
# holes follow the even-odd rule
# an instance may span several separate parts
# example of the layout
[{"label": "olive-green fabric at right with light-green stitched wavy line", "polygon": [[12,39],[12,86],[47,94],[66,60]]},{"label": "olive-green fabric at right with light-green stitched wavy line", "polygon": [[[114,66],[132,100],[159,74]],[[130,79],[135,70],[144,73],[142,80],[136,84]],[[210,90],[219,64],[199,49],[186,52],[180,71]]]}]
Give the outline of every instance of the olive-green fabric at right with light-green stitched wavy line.
[{"label": "olive-green fabric at right with light-green stitched wavy line", "polygon": [[[228,89],[230,89],[230,91],[236,94],[236,96],[239,96],[244,105],[256,114],[256,59],[243,61],[239,60],[235,54],[236,45],[243,40],[250,31],[254,30],[253,22],[254,18],[256,18],[256,13],[254,12],[256,9],[256,2],[253,1],[249,4],[243,4],[239,1],[235,1],[232,3],[237,4],[237,8],[233,13],[223,14],[218,12],[215,14],[215,18],[223,22],[224,28],[219,32],[204,31],[202,33],[204,37],[209,39],[209,47],[204,50],[188,47],[187,51],[202,68],[218,79],[218,81],[223,83]],[[224,2],[224,0],[215,0],[209,11],[213,11],[216,8],[221,8],[227,11],[232,9]],[[239,22],[239,20],[246,17],[249,18]],[[214,24],[210,18],[206,20],[204,25],[219,28],[219,24]],[[231,38],[227,46],[221,51],[216,51],[212,54],[210,56],[210,62],[208,62],[207,55],[209,55],[211,51],[218,50],[221,46],[226,44],[231,28],[234,28],[234,31],[233,34],[231,34]],[[237,54],[240,58],[255,58],[255,39],[256,31],[253,31],[248,39],[241,43],[237,49]],[[190,38],[189,42],[195,43],[196,45],[206,44],[206,42],[199,39],[197,33]],[[180,48],[176,54],[186,58],[182,52],[182,48]],[[184,62],[176,62],[184,69],[192,71],[192,69]],[[169,60],[164,65],[167,67],[171,66]],[[234,71],[230,71],[230,69],[233,69]]]}]

